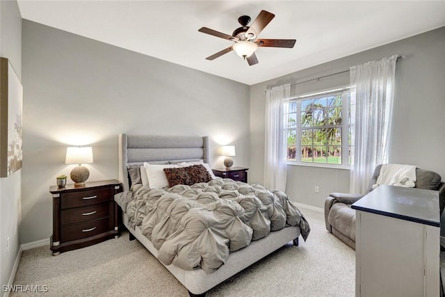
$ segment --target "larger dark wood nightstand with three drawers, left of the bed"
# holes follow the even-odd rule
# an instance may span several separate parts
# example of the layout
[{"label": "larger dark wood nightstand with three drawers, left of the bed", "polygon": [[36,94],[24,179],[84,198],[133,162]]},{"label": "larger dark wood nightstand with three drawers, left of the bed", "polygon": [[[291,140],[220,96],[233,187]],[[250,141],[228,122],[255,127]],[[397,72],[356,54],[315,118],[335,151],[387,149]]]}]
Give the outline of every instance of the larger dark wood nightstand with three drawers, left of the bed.
[{"label": "larger dark wood nightstand with three drawers, left of the bed", "polygon": [[116,179],[87,182],[85,186],[49,187],[53,194],[53,234],[50,249],[60,252],[91,246],[119,236],[118,204],[122,192]]}]

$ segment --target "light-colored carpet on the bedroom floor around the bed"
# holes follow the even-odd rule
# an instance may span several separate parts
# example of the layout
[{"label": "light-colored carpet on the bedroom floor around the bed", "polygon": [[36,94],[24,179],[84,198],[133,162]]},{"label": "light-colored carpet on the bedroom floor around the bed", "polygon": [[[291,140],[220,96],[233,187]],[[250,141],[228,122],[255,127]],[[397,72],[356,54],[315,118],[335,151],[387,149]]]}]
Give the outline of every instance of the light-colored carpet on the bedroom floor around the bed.
[{"label": "light-colored carpet on the bedroom floor around the bed", "polygon": [[[323,214],[300,208],[307,242],[285,246],[211,289],[207,296],[355,296],[355,252],[325,230]],[[128,233],[51,256],[25,250],[14,284],[47,285],[46,293],[10,296],[188,296],[187,290]]]}]

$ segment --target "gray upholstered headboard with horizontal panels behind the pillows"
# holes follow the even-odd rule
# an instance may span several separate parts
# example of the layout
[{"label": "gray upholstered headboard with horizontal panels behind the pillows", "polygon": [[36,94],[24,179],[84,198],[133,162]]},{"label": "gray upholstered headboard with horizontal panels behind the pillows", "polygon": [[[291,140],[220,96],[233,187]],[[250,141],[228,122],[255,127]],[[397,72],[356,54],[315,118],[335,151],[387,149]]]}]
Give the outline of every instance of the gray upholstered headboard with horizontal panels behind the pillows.
[{"label": "gray upholstered headboard with horizontal panels behind the pillows", "polygon": [[168,161],[209,163],[207,136],[147,136],[119,134],[119,179],[129,189],[127,166]]}]

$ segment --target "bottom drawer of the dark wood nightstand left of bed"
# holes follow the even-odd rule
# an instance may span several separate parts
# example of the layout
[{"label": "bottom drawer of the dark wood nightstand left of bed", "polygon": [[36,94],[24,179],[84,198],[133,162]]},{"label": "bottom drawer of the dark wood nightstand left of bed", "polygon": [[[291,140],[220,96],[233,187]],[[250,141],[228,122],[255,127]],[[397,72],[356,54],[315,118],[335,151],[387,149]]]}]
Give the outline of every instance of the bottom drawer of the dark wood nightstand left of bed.
[{"label": "bottom drawer of the dark wood nightstand left of bed", "polygon": [[113,218],[102,218],[101,220],[91,220],[86,223],[68,225],[62,227],[62,242],[83,239],[96,234],[101,234],[113,230]]}]

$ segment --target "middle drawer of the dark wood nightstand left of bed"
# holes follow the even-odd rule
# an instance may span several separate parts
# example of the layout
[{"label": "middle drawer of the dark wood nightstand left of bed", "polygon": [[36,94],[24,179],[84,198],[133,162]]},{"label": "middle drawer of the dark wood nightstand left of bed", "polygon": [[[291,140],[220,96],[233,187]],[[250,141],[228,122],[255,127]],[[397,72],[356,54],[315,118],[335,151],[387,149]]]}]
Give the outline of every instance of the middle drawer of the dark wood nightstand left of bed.
[{"label": "middle drawer of the dark wood nightstand left of bed", "polygon": [[94,204],[88,207],[76,207],[72,209],[65,209],[62,211],[61,223],[68,225],[72,223],[86,222],[87,220],[97,220],[105,218],[113,214],[114,204],[112,202],[105,202],[101,204]]}]

